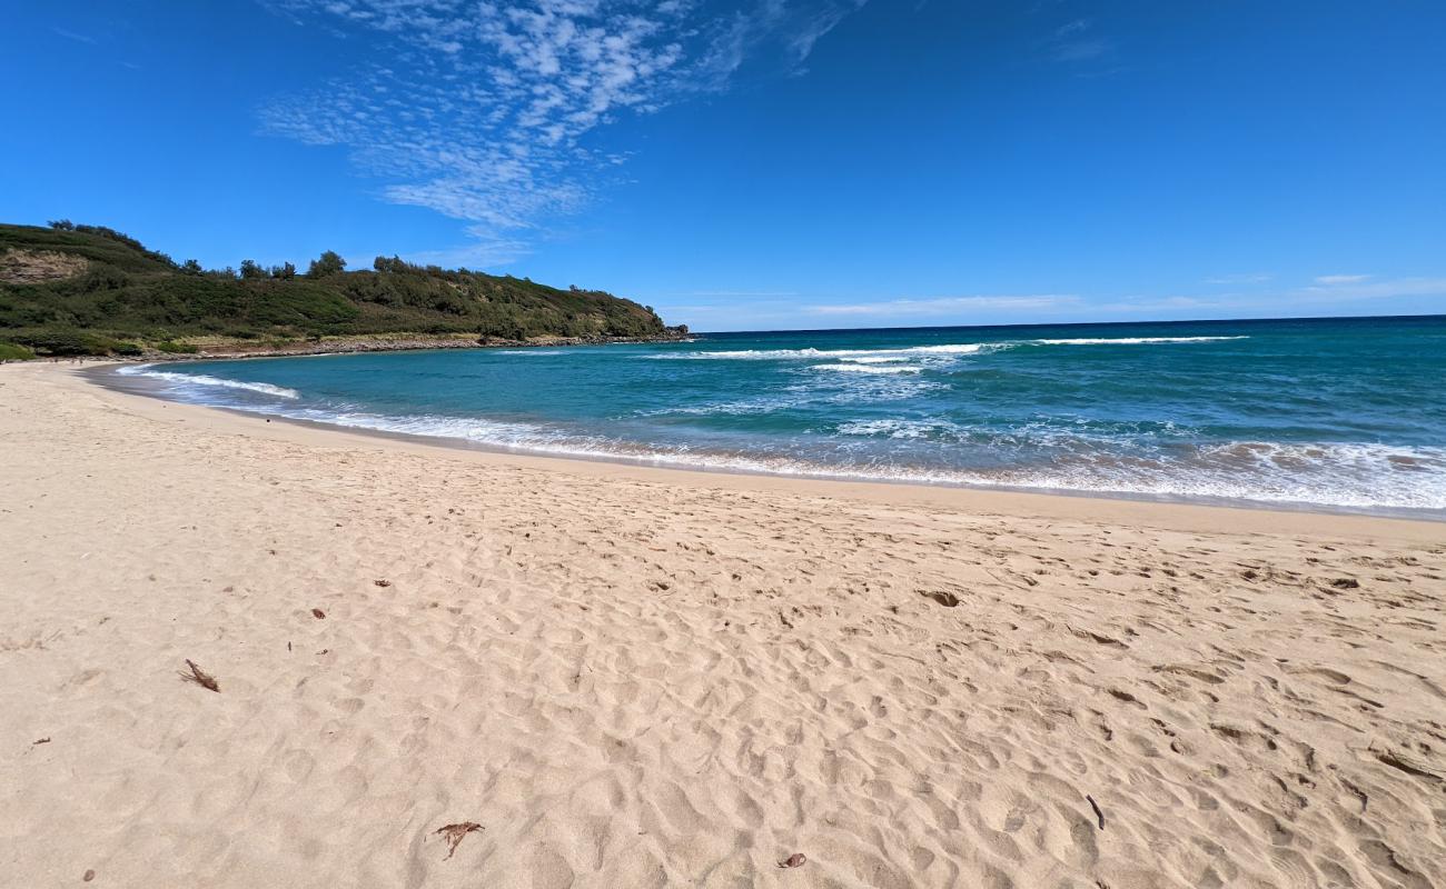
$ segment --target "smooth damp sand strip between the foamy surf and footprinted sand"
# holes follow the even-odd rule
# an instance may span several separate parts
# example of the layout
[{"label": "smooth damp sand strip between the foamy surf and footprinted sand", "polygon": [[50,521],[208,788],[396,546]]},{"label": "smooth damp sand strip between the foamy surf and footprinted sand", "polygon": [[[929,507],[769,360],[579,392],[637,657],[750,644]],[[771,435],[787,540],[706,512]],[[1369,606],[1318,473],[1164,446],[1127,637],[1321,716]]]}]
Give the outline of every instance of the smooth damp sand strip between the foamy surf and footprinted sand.
[{"label": "smooth damp sand strip between the foamy surf and footprinted sand", "polygon": [[[114,363],[123,364],[123,363]],[[683,483],[724,487],[730,490],[792,491],[818,496],[859,497],[875,503],[908,503],[941,506],[949,509],[983,509],[999,515],[1035,517],[1099,517],[1102,520],[1148,522],[1161,528],[1197,528],[1202,531],[1251,529],[1268,532],[1280,528],[1301,528],[1312,531],[1332,529],[1335,533],[1378,533],[1368,531],[1371,523],[1387,522],[1404,529],[1401,539],[1430,541],[1446,538],[1446,519],[1379,515],[1368,512],[1329,510],[1301,506],[1294,509],[1264,502],[1205,503],[1197,500],[1148,499],[1131,494],[1108,494],[1099,491],[1028,490],[1012,487],[986,487],[966,484],[925,484],[915,481],[852,480],[846,477],[794,476],[784,473],[750,473],[732,467],[681,467],[648,464],[642,460],[603,455],[545,454],[503,447],[489,447],[480,442],[442,437],[424,437],[405,432],[389,432],[362,426],[341,426],[320,421],[288,416],[268,416],[231,408],[213,408],[168,399],[149,392],[145,383],[126,386],[114,382],[114,369],[107,364],[77,369],[72,374],[84,385],[126,399],[132,409],[147,416],[158,416],[143,405],[168,405],[182,412],[197,412],[194,422],[210,428],[224,428],[234,432],[266,432],[278,437],[278,429],[302,431],[299,438],[314,444],[334,445],[376,442],[383,448],[399,448],[408,452],[432,452],[460,458],[476,458],[487,464],[525,465],[561,473],[593,477],[623,477],[639,481]],[[272,422],[276,421],[276,422]],[[1249,516],[1249,517],[1246,517]],[[1339,528],[1338,526],[1339,520]],[[1349,526],[1361,525],[1359,531]]]}]

